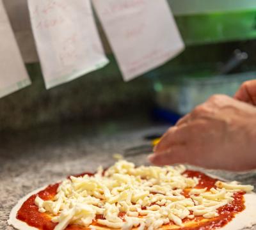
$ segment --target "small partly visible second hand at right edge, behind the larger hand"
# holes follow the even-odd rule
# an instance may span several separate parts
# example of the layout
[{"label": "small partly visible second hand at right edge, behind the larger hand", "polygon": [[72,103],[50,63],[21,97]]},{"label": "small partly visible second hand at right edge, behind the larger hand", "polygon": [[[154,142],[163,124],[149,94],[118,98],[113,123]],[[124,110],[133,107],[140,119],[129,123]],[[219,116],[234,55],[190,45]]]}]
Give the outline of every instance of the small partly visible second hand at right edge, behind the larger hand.
[{"label": "small partly visible second hand at right edge, behind the larger hand", "polygon": [[256,105],[256,80],[246,81],[241,84],[234,98],[251,105]]}]

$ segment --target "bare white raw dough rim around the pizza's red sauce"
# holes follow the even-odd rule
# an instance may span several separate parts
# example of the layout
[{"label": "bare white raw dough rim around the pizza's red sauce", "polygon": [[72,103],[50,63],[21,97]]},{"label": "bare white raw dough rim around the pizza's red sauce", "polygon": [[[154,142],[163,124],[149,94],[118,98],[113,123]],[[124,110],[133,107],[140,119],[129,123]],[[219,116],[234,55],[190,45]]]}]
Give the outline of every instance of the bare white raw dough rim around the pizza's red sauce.
[{"label": "bare white raw dough rim around the pizza's red sauce", "polygon": [[[223,178],[218,178],[218,176],[214,176],[212,174],[207,174],[207,176],[211,176],[211,178],[220,179],[222,181]],[[10,217],[8,219],[8,224],[10,226],[15,227],[15,229],[19,230],[38,230],[36,227],[31,227],[26,222],[23,222],[16,218],[18,211],[20,210],[22,204],[31,197],[31,195],[37,194],[38,192],[44,190],[47,186],[38,188],[33,192],[30,192],[28,195],[22,197],[19,202],[13,207]],[[241,213],[237,213],[236,216],[228,222],[225,226],[221,227],[222,230],[243,230],[243,229],[251,229],[253,226],[256,226],[256,194],[254,192],[244,194],[244,205],[245,209],[241,211]],[[93,226],[97,230],[106,230],[111,229],[108,227],[100,227]],[[167,230],[164,227],[159,228],[159,230]]]}]

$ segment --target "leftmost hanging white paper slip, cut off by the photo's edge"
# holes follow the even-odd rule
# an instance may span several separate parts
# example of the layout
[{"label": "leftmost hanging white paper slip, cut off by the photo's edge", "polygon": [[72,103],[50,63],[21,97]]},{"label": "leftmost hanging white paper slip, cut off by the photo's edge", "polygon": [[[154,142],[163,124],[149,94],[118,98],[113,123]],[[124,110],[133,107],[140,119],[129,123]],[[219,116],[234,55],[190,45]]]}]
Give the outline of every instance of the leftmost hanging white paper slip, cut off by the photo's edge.
[{"label": "leftmost hanging white paper slip, cut off by the photo's edge", "polygon": [[20,50],[0,0],[0,97],[31,84]]}]

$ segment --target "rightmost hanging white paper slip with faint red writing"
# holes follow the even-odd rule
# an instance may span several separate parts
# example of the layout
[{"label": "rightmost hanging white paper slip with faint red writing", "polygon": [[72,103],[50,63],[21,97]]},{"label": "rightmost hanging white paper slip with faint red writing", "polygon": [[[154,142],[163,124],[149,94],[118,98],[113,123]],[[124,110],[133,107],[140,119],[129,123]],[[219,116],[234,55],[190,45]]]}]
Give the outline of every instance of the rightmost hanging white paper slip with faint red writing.
[{"label": "rightmost hanging white paper slip with faint red writing", "polygon": [[184,49],[166,0],[93,0],[93,6],[125,81]]}]

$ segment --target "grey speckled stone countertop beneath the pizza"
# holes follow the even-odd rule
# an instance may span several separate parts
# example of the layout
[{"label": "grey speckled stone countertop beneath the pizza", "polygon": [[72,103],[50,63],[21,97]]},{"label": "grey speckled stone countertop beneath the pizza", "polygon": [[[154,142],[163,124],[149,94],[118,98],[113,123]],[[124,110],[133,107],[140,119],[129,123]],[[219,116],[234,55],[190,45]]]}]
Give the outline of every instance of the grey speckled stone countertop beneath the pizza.
[{"label": "grey speckled stone countertop beneath the pizza", "polygon": [[[87,128],[81,124],[28,130],[21,134],[0,134],[0,229],[11,230],[7,219],[21,197],[36,188],[54,183],[70,174],[93,172],[99,165],[108,167],[115,153],[134,146],[149,145],[144,137],[163,133],[168,126],[115,123]],[[137,165],[148,164],[148,153],[129,155]],[[230,173],[207,171],[227,180],[256,186],[256,171]],[[256,229],[254,227],[253,229]]]}]

